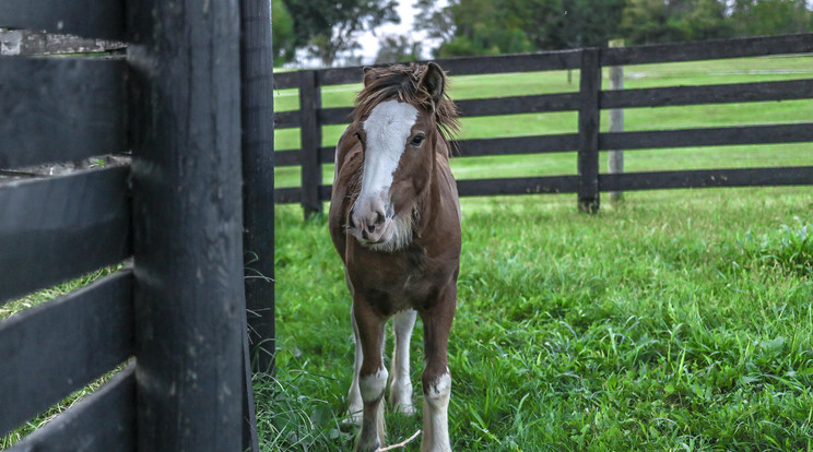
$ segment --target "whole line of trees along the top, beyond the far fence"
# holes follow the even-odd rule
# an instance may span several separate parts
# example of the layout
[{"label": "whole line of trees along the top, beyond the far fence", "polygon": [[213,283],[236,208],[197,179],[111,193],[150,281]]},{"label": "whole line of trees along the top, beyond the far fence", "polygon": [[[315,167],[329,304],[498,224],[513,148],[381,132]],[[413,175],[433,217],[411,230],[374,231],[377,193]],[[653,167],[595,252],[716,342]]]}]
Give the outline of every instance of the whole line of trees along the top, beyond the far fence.
[{"label": "whole line of trees along the top, beyond the far fence", "polygon": [[[408,0],[410,1],[410,0]],[[435,0],[414,1],[414,32],[436,58],[762,36],[813,31],[809,0]],[[272,0],[274,62],[299,56],[333,66],[358,36],[398,23],[396,0]],[[420,58],[412,34],[379,36],[376,62]]]}]

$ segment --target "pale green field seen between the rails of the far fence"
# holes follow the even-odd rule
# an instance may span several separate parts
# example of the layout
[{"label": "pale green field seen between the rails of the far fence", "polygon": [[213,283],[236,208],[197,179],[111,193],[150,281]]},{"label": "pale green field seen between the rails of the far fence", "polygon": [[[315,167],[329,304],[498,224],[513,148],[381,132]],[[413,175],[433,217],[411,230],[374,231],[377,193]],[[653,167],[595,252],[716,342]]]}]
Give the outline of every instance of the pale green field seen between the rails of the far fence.
[{"label": "pale green field seen between the rails of the far fence", "polygon": [[[625,88],[658,86],[746,83],[813,78],[813,57],[751,58],[684,63],[640,64],[625,68]],[[470,99],[516,96],[578,90],[578,71],[573,71],[570,83],[566,71],[515,73],[497,75],[452,76],[451,96]],[[609,78],[604,75],[604,87]],[[340,85],[322,88],[325,107],[350,106],[361,85]],[[274,93],[279,111],[298,108],[296,90]],[[792,123],[810,121],[813,100],[702,105],[685,107],[629,108],[624,115],[625,130],[691,129],[731,127],[740,124]],[[608,116],[602,112],[602,130]],[[461,139],[521,136],[551,133],[575,133],[577,115],[574,111],[551,114],[508,115],[500,117],[463,118]],[[322,145],[334,146],[344,126],[325,127]],[[275,131],[275,148],[295,150],[299,146],[298,129]],[[602,158],[602,165],[605,165]],[[629,151],[625,153],[627,171],[668,169],[710,169],[721,167],[773,167],[813,165],[810,143],[751,146],[715,146]],[[575,153],[546,155],[512,155],[457,158],[452,169],[459,179],[490,177],[526,177],[576,174]],[[278,187],[299,183],[297,167],[275,170]],[[322,180],[331,183],[332,165],[325,165]]]}]

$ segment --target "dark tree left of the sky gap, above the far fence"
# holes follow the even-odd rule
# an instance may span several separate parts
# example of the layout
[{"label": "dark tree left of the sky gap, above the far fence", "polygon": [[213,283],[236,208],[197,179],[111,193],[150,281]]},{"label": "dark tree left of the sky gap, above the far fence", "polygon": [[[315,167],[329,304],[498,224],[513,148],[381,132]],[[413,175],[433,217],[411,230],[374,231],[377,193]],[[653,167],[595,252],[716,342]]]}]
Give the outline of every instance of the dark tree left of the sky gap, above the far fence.
[{"label": "dark tree left of the sky gap, above the far fence", "polygon": [[360,48],[357,37],[386,22],[399,23],[397,0],[284,0],[294,19],[294,48],[330,67],[341,52]]}]

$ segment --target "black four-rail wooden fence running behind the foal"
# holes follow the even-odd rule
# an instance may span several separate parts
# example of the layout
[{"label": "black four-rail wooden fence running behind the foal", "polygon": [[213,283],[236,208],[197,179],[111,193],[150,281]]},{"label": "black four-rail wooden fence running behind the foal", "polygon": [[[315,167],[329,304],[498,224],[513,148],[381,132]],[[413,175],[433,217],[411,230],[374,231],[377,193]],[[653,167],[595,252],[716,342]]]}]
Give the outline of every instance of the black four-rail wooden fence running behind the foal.
[{"label": "black four-rail wooden fence running behind the foal", "polygon": [[[599,174],[599,151],[604,150],[813,142],[813,122],[600,132],[599,114],[602,109],[813,98],[813,79],[602,91],[603,67],[808,52],[813,52],[813,34],[440,60],[438,62],[452,76],[574,69],[580,71],[580,90],[576,93],[457,103],[464,117],[578,111],[578,133],[459,142],[463,158],[574,151],[578,153],[577,175],[458,180],[460,194],[578,193],[579,207],[596,211],[599,209],[600,191],[813,185],[813,166]],[[358,83],[361,76],[361,68],[321,69],[276,75],[278,88],[299,88],[301,106],[297,111],[278,112],[276,128],[301,127],[302,133],[301,150],[275,153],[278,167],[302,166],[301,187],[276,189],[278,203],[301,202],[306,212],[319,212],[321,202],[330,198],[330,187],[321,185],[321,165],[333,162],[334,148],[321,147],[321,127],[345,123],[352,108],[321,108],[320,88]]]}]

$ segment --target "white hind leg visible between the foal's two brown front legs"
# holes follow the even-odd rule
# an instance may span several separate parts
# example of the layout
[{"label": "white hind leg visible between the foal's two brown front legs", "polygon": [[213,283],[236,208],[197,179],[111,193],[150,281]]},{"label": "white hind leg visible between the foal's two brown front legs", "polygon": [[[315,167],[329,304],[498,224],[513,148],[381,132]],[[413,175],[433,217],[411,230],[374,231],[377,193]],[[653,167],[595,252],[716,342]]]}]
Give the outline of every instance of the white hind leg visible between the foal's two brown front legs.
[{"label": "white hind leg visible between the foal's two brown front legs", "polygon": [[412,404],[412,381],[410,379],[410,340],[416,318],[417,312],[408,309],[397,313],[392,320],[396,345],[392,350],[389,404],[393,409],[406,415],[415,414],[415,406]]}]

